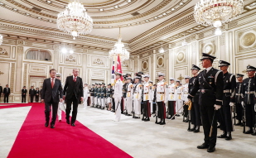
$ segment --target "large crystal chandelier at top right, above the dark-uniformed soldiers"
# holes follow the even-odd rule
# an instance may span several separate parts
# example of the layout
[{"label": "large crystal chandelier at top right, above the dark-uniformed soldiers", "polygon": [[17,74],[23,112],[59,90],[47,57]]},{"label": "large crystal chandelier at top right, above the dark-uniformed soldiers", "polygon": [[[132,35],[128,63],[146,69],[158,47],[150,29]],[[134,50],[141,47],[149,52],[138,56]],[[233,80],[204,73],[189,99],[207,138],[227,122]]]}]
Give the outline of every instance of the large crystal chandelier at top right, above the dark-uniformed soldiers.
[{"label": "large crystal chandelier at top right, above the dark-uniformed soldiers", "polygon": [[243,0],[200,0],[196,3],[194,17],[200,25],[213,25],[215,35],[221,35],[220,26],[242,13],[243,5]]}]

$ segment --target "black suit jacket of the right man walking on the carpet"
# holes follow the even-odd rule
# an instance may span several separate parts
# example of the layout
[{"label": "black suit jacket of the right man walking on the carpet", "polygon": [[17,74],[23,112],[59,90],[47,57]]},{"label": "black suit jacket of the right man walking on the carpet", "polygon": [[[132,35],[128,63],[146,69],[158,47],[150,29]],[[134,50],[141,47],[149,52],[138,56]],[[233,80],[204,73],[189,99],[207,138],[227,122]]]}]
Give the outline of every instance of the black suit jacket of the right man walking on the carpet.
[{"label": "black suit jacket of the right man walking on the carpet", "polygon": [[84,97],[84,89],[83,80],[77,76],[76,82],[74,82],[73,75],[71,75],[65,79],[63,95],[66,95],[66,99],[71,99],[73,94],[75,98],[80,99],[80,97]]}]

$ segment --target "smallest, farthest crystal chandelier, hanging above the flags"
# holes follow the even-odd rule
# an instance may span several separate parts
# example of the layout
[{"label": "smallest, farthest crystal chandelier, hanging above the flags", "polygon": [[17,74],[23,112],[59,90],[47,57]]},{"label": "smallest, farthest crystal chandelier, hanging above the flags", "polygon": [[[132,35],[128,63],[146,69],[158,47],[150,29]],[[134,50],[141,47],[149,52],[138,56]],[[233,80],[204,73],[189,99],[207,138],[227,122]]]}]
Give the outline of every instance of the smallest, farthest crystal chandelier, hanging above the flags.
[{"label": "smallest, farthest crystal chandelier, hanging above the flags", "polygon": [[120,27],[119,27],[119,36],[118,36],[118,42],[114,44],[114,48],[109,51],[109,58],[115,59],[115,57],[120,56],[120,60],[128,60],[130,57],[130,53],[128,50],[124,48],[124,45],[122,43],[121,33],[120,33]]}]

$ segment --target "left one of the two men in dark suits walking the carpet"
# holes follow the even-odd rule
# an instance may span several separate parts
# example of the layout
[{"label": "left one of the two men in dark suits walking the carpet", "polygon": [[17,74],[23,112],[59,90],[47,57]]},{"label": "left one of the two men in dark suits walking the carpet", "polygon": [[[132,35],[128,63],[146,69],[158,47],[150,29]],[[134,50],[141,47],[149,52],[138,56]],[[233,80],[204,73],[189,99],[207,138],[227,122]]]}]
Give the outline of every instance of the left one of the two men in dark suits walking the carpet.
[{"label": "left one of the two men in dark suits walking the carpet", "polygon": [[59,102],[63,102],[63,89],[60,79],[56,79],[56,69],[50,69],[51,78],[45,79],[41,90],[41,103],[45,103],[46,124],[49,126],[50,112],[52,105],[51,128],[55,128],[57,110]]}]

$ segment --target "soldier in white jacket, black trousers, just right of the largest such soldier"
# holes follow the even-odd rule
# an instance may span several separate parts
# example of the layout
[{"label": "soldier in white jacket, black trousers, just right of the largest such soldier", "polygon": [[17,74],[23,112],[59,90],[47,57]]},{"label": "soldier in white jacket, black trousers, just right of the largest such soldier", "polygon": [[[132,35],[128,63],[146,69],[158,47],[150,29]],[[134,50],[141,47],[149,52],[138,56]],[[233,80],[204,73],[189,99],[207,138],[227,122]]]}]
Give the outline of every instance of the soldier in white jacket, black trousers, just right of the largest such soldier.
[{"label": "soldier in white jacket, black trousers, just right of the largest such soldier", "polygon": [[[176,113],[176,103],[175,103],[175,80],[174,78],[170,78],[170,84],[167,88],[167,96],[168,96],[168,109],[167,109],[167,119],[175,119],[173,117]],[[168,117],[170,115],[170,117]]]}]

